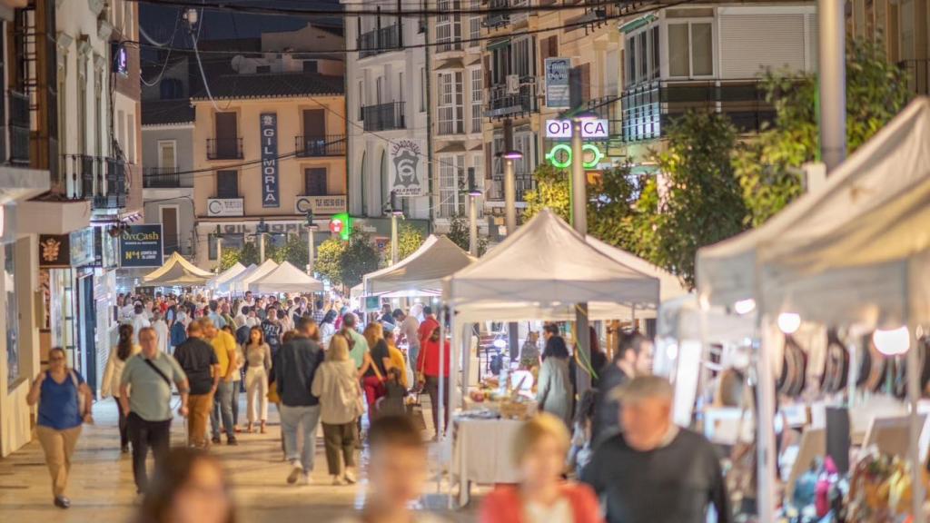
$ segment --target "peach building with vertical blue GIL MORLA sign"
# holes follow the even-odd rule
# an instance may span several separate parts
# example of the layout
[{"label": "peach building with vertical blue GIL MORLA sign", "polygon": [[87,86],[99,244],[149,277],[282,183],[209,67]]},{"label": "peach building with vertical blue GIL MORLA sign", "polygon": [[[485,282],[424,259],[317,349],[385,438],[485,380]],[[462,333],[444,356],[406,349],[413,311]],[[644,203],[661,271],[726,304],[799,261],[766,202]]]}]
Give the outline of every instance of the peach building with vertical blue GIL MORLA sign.
[{"label": "peach building with vertical blue GIL MORLA sign", "polygon": [[[339,48],[341,37],[320,46]],[[262,52],[231,65],[191,99],[194,259],[205,268],[217,263],[218,233],[223,248],[261,228],[280,244],[302,233],[308,211],[326,229],[347,208],[343,62]]]}]

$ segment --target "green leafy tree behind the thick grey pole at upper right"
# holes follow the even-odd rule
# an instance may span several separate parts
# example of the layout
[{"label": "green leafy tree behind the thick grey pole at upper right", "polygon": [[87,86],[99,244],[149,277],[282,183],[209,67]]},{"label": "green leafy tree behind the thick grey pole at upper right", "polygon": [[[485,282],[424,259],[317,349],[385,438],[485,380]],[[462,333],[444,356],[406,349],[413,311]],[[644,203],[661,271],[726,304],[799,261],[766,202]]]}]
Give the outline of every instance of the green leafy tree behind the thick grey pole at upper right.
[{"label": "green leafy tree behind the thick grey pole at upper right", "polygon": [[[817,160],[817,76],[765,74],[765,98],[775,105],[775,125],[733,158],[747,221],[759,226],[804,193],[801,166]],[[907,73],[881,47],[852,40],[846,47],[846,149],[868,141],[910,101]]]}]

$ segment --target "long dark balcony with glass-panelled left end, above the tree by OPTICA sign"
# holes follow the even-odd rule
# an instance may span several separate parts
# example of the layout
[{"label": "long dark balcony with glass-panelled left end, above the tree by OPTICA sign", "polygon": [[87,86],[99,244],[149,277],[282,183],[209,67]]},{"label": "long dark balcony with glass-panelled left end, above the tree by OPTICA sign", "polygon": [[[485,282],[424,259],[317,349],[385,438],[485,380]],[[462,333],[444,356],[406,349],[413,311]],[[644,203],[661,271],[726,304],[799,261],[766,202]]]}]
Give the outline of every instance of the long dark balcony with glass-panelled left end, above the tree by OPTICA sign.
[{"label": "long dark balcony with glass-panelled left end, above the tree by OPTICA sign", "polygon": [[625,90],[620,105],[625,142],[660,139],[665,127],[692,110],[725,114],[742,133],[759,132],[775,119],[758,80],[663,80]]}]

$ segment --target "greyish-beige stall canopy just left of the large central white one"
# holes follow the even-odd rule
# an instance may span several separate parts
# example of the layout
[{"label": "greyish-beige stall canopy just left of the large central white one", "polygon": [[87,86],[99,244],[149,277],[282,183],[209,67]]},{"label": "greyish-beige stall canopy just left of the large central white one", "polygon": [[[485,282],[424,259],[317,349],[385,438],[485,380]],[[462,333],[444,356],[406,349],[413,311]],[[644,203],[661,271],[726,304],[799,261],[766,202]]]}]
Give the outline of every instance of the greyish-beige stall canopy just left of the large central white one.
[{"label": "greyish-beige stall canopy just left of the large central white one", "polygon": [[443,278],[475,262],[446,236],[430,235],[413,254],[390,267],[365,275],[365,294],[424,291],[435,294]]}]

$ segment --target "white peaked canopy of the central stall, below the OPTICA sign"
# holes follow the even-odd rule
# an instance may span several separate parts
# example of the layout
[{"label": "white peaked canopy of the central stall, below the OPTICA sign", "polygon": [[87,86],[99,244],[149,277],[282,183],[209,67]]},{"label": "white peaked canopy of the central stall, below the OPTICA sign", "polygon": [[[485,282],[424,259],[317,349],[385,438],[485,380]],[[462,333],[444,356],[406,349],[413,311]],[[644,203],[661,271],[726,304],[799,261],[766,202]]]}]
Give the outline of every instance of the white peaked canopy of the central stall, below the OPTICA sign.
[{"label": "white peaked canopy of the central stall, below the OPTICA sign", "polygon": [[462,321],[559,319],[574,315],[578,302],[589,302],[597,317],[617,303],[655,309],[659,302],[658,278],[616,262],[549,209],[444,287]]}]

